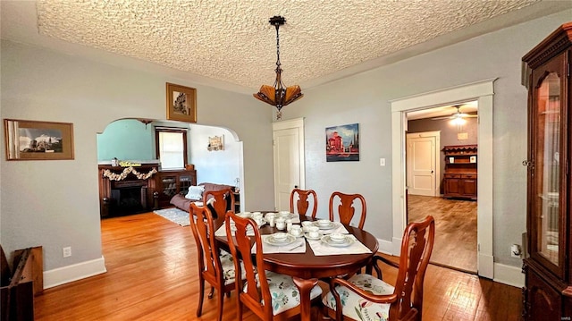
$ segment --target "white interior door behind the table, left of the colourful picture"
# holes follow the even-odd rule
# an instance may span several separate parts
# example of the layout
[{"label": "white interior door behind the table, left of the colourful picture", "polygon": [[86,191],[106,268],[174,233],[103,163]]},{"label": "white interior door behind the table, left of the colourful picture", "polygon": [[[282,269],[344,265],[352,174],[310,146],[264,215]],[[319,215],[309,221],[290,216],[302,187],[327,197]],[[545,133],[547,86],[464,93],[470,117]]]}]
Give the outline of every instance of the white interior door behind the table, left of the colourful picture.
[{"label": "white interior door behind the table, left of the colourful picture", "polygon": [[290,209],[290,192],[305,189],[304,122],[302,119],[273,123],[274,204]]}]

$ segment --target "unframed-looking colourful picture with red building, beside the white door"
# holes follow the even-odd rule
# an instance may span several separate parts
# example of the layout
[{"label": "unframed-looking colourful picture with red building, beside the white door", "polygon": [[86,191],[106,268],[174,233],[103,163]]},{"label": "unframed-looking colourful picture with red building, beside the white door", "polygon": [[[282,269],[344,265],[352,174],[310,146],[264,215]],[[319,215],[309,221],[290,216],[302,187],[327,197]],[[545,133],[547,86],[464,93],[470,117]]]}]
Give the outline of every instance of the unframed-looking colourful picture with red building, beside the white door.
[{"label": "unframed-looking colourful picture with red building, beside the white door", "polygon": [[327,162],[358,161],[359,124],[327,127],[325,158]]}]

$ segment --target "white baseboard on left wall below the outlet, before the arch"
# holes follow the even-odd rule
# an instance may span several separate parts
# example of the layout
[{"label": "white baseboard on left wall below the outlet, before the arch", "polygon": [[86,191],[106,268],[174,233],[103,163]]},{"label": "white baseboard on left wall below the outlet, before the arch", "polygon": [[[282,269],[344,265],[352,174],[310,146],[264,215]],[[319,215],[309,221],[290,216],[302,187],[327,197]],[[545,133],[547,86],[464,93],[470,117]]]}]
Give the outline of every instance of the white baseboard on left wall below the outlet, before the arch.
[{"label": "white baseboard on left wall below the outlet, before the arch", "polygon": [[105,258],[103,256],[71,266],[58,267],[44,272],[44,289],[78,281],[93,275],[101,275],[105,272],[107,270],[105,269]]}]

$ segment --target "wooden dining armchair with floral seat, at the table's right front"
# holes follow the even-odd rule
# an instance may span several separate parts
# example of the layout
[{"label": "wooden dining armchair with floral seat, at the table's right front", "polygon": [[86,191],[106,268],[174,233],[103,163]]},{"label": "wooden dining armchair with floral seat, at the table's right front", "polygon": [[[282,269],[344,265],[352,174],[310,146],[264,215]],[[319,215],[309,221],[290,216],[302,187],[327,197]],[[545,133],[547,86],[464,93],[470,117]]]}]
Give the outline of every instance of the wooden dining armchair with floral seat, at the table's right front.
[{"label": "wooden dining armchair with floral seat, at the table's right front", "polygon": [[[326,314],[336,320],[376,316],[388,321],[421,321],[423,283],[434,237],[433,216],[408,224],[401,241],[400,263],[375,256],[366,274],[330,280],[330,292],[323,300]],[[378,262],[398,268],[395,286],[382,280]],[[372,275],[372,267],[377,277]]]}]

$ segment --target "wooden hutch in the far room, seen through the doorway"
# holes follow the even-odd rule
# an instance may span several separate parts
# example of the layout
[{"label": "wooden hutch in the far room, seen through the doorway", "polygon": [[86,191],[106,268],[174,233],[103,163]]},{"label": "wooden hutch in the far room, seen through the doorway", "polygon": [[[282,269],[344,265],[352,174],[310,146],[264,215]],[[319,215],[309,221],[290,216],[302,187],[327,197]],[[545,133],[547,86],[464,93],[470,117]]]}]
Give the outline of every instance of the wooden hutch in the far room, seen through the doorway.
[{"label": "wooden hutch in the far room, seen through the doorway", "polygon": [[476,199],[476,145],[445,146],[443,198]]}]

